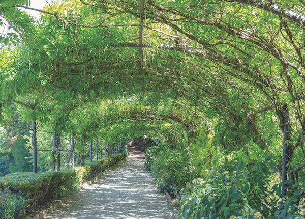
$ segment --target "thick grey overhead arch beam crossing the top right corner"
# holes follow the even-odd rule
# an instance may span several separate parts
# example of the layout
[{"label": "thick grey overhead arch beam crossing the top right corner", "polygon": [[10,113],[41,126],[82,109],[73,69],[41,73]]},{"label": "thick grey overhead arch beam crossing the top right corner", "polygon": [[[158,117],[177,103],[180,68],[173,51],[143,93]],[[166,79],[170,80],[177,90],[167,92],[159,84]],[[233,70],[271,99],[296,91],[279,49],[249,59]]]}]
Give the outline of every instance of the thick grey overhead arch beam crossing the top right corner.
[{"label": "thick grey overhead arch beam crossing the top right corner", "polygon": [[263,9],[265,11],[269,11],[273,14],[285,17],[290,21],[301,24],[303,27],[305,27],[305,16],[302,16],[291,10],[285,10],[281,8],[279,5],[274,4],[272,2],[264,1],[264,0],[235,0],[235,1],[241,4],[250,5],[256,8]]}]

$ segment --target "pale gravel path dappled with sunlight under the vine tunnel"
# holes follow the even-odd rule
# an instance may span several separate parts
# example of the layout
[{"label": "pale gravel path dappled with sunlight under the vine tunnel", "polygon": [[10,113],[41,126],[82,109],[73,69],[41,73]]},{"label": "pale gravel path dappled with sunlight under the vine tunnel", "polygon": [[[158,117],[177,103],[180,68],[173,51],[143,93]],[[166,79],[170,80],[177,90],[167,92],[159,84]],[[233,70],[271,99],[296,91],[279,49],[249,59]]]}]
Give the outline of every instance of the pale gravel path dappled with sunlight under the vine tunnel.
[{"label": "pale gravel path dappled with sunlight under the vine tunnel", "polygon": [[144,162],[137,156],[120,162],[45,218],[173,218],[165,196],[158,193],[156,181],[145,170]]}]

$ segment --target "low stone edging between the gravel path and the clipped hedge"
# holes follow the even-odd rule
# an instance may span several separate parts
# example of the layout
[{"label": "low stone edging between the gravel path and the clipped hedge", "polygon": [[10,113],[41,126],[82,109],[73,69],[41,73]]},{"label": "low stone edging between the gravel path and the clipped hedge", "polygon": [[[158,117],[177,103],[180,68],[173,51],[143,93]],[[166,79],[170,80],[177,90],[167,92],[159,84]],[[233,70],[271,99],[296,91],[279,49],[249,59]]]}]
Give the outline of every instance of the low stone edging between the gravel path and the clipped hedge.
[{"label": "low stone edging between the gravel path and the clipped hedge", "polygon": [[42,210],[40,213],[34,215],[34,216],[28,216],[25,217],[24,219],[44,219],[44,217],[47,214],[50,214],[54,211],[57,210],[58,207],[62,206],[63,204],[67,203],[68,200],[73,199],[83,188],[83,186],[85,185],[92,185],[94,182],[98,181],[99,179],[102,178],[102,176],[104,176],[107,172],[109,172],[110,170],[112,170],[114,167],[116,167],[120,162],[122,161],[126,161],[126,158],[124,158],[123,160],[120,160],[119,162],[115,163],[115,165],[113,165],[112,167],[106,169],[105,171],[99,173],[96,177],[94,177],[92,180],[89,180],[85,183],[83,183],[83,185],[79,186],[75,191],[72,192],[72,194],[70,194],[69,196],[65,196],[63,199],[55,202],[54,204],[52,204],[49,208]]}]

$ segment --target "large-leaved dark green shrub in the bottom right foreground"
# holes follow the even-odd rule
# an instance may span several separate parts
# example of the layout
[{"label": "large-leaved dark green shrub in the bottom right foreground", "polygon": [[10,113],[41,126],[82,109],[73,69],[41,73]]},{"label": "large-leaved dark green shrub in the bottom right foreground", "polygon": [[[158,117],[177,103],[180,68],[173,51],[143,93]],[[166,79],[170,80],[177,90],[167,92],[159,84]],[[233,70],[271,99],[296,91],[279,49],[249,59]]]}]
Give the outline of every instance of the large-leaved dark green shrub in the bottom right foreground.
[{"label": "large-leaved dark green shrub in the bottom right foreground", "polygon": [[284,201],[281,186],[270,189],[271,158],[248,167],[241,160],[226,163],[208,171],[207,177],[188,183],[181,191],[178,218],[301,218],[294,197]]}]

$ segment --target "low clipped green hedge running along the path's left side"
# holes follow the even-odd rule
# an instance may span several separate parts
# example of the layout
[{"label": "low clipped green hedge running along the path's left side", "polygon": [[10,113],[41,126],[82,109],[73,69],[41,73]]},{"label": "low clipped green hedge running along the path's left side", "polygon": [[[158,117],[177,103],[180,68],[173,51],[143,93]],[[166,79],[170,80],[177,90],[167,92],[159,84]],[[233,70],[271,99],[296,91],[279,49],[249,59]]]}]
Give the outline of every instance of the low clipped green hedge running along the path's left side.
[{"label": "low clipped green hedge running along the path's left side", "polygon": [[[74,170],[60,172],[13,173],[0,177],[0,218],[19,218],[52,201],[56,195],[65,196],[86,179],[90,179],[128,157],[128,151],[116,154]],[[12,206],[11,206],[12,205]]]}]

